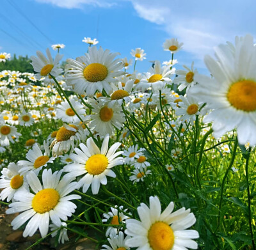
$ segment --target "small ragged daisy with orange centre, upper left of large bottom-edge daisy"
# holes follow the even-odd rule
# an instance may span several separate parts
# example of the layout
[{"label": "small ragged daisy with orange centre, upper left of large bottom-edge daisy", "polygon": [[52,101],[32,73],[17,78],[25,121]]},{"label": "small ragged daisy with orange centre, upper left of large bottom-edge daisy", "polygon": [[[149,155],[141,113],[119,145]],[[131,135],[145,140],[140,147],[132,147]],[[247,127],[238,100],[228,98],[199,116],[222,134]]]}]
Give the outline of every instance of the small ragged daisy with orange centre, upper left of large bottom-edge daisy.
[{"label": "small ragged daisy with orange centre, upper left of large bottom-edge daisy", "polygon": [[[108,212],[108,214],[103,214],[103,217],[105,219],[102,219],[102,223],[106,223],[111,218],[109,224],[119,225],[125,223],[125,220],[129,218],[128,216],[124,215],[123,212],[127,212],[128,209],[124,209],[123,206],[120,206],[119,208],[115,206],[115,208],[111,207],[110,209],[111,212]],[[106,237],[108,237],[108,235],[115,236],[119,230],[122,230],[122,228],[113,228],[111,226],[108,226],[106,231]]]}]

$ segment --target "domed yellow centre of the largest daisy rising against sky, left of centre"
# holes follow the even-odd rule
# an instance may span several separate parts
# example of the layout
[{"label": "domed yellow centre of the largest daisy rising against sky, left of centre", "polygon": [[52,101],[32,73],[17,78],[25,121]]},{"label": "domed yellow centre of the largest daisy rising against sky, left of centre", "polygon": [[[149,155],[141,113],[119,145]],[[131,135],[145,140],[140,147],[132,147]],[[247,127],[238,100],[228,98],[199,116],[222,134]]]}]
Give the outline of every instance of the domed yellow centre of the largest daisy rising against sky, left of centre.
[{"label": "domed yellow centre of the largest daisy rising against sky, left of centre", "polygon": [[84,68],[84,78],[89,82],[100,82],[108,76],[108,68],[100,63],[91,63]]}]

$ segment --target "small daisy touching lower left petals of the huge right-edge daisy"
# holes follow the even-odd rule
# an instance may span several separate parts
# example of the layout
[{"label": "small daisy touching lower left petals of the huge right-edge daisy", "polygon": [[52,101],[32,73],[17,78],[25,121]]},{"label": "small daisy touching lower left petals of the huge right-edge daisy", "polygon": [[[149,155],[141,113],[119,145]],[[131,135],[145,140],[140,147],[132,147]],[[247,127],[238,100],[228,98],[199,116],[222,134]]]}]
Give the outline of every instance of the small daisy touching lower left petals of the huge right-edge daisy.
[{"label": "small daisy touching lower left petals of the huge right-edge daisy", "polygon": [[200,114],[199,110],[202,107],[203,103],[198,104],[198,100],[188,95],[187,97],[180,96],[182,102],[179,102],[179,108],[176,109],[175,114],[181,116],[180,121],[187,121],[194,125],[196,116]]}]

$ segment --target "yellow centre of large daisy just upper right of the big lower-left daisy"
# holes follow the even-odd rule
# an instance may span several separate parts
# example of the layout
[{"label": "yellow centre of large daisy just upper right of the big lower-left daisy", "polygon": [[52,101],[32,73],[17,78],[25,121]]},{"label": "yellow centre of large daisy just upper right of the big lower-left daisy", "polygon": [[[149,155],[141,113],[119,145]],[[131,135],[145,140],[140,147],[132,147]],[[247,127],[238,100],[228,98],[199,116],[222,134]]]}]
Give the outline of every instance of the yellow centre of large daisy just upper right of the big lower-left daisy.
[{"label": "yellow centre of large daisy just upper right of the big lower-left daisy", "polygon": [[90,175],[100,175],[108,167],[108,158],[100,153],[92,155],[85,164],[85,169]]}]

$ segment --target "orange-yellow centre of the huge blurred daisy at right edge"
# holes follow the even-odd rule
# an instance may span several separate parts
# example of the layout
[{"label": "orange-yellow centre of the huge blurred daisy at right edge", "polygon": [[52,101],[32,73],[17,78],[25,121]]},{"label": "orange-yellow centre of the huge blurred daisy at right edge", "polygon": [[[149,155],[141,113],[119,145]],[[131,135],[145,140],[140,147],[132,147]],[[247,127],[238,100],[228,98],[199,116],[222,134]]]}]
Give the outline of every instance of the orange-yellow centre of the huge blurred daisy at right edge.
[{"label": "orange-yellow centre of the huge blurred daisy at right edge", "polygon": [[256,111],[256,82],[250,80],[235,82],[229,88],[227,98],[236,109]]}]

